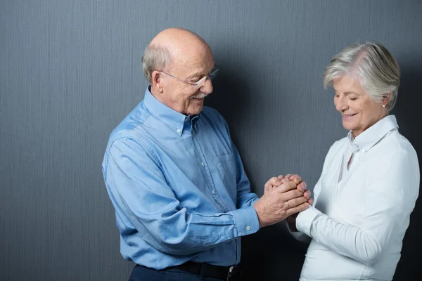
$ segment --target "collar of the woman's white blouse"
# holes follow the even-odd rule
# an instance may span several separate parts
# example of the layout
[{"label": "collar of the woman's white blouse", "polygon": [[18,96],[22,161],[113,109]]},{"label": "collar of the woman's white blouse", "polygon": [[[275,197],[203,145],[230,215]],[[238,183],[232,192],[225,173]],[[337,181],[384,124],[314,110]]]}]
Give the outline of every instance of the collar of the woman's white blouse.
[{"label": "collar of the woman's white blouse", "polygon": [[388,115],[376,122],[376,124],[370,126],[354,139],[352,137],[352,131],[349,131],[347,138],[354,151],[361,150],[366,153],[373,145],[376,145],[378,141],[381,141],[381,138],[383,138],[386,133],[398,128],[399,125],[397,125],[396,117],[394,115]]}]

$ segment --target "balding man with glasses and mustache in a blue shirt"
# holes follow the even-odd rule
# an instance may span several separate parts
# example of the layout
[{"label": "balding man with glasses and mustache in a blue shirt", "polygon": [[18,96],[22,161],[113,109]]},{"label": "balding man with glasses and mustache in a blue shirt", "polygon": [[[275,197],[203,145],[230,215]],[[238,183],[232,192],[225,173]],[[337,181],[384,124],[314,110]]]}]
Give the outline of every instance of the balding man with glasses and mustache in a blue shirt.
[{"label": "balding man with glasses and mustache in a blue shirt", "polygon": [[221,115],[204,107],[218,67],[210,46],[181,29],[143,55],[150,86],[111,133],[103,176],[130,280],[238,280],[241,236],[312,203],[300,176],[271,178],[259,199]]}]

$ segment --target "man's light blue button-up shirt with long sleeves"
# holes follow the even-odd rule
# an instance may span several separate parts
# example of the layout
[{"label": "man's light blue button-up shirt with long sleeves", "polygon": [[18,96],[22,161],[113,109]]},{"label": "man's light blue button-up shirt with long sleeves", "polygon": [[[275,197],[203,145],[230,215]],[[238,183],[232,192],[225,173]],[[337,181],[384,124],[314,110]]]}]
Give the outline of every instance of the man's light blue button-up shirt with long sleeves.
[{"label": "man's light blue button-up shirt with long sleeves", "polygon": [[257,195],[216,110],[189,117],[146,90],[111,133],[103,176],[124,259],[162,269],[186,261],[239,263],[255,233]]}]

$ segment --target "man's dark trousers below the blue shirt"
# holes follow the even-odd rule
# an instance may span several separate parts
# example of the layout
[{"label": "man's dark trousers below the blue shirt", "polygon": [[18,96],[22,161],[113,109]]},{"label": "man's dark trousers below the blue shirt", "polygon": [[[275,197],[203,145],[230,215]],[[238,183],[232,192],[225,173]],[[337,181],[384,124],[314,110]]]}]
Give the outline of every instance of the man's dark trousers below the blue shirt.
[{"label": "man's dark trousers below the blue shirt", "polygon": [[[177,268],[167,268],[165,270],[155,270],[146,268],[145,266],[136,265],[132,270],[129,281],[222,281],[222,279],[215,279],[205,277],[203,271],[199,274],[190,273],[188,271]],[[225,281],[225,280],[224,280]]]}]

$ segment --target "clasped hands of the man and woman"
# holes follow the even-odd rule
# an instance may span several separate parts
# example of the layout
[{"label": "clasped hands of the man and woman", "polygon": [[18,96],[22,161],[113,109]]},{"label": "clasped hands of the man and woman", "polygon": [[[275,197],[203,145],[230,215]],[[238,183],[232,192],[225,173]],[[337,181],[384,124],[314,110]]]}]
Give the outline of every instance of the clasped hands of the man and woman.
[{"label": "clasped hands of the man and woman", "polygon": [[255,202],[260,228],[271,226],[303,211],[312,204],[311,192],[299,175],[288,174],[270,178],[264,185],[264,195]]}]

